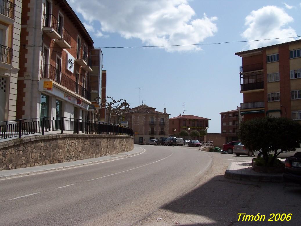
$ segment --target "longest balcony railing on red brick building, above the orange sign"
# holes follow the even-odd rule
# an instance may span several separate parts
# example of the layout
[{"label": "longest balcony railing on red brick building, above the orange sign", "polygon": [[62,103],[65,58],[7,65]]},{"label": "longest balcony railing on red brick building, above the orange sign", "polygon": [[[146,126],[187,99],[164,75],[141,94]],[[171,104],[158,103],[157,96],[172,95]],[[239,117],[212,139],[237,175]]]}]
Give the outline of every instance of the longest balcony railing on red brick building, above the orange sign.
[{"label": "longest balcony railing on red brick building, above the orange sign", "polygon": [[77,93],[79,96],[82,96],[86,100],[90,100],[90,92],[69,78],[66,74],[59,71],[57,68],[51,64],[44,64],[42,70],[42,78],[48,78],[54,80],[65,88],[69,89],[73,93]]}]

